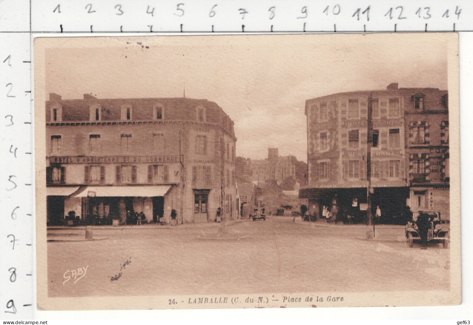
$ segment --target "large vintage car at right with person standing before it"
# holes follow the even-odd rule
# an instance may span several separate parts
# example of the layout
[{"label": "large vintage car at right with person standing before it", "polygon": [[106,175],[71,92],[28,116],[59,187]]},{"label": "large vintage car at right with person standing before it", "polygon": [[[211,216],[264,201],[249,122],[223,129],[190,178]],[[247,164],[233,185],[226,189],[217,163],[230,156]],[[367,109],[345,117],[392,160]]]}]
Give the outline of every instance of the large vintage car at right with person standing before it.
[{"label": "large vintage car at right with person standing before it", "polygon": [[429,215],[430,220],[430,228],[427,232],[427,241],[437,241],[442,242],[444,248],[448,247],[448,241],[450,240],[449,232],[448,232],[448,220],[441,220],[440,219],[440,211],[434,210],[420,210],[414,211],[412,213],[412,221],[409,221],[406,224],[405,231],[406,231],[406,239],[409,247],[414,246],[414,240],[420,241],[420,236],[418,232],[418,228],[416,225],[417,218],[419,217],[420,213],[426,213]]}]

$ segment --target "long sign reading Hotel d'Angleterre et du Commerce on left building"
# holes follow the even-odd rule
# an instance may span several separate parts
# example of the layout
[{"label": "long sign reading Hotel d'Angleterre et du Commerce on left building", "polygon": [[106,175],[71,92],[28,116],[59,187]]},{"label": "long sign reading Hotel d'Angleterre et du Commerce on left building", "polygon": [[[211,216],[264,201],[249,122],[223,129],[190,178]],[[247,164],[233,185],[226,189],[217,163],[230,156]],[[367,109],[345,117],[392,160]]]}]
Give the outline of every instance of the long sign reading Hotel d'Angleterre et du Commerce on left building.
[{"label": "long sign reading Hotel d'Angleterre et du Commerce on left building", "polygon": [[147,162],[179,162],[179,156],[70,156],[49,157],[51,164],[123,164]]}]

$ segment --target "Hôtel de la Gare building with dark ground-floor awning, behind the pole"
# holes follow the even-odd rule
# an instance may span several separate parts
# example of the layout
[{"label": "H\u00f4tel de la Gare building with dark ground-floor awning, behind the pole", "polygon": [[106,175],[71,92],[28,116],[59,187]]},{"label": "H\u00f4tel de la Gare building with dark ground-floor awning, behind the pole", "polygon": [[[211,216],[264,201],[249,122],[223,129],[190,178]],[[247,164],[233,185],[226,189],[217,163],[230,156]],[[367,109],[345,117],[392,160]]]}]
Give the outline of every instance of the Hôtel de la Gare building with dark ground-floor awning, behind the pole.
[{"label": "H\u00f4tel de la Gare building with dark ground-floor awning, behind the pole", "polygon": [[[390,222],[406,205],[405,102],[397,84],[385,90],[339,93],[306,101],[308,185],[299,196],[309,212],[337,204],[342,218],[367,218],[368,101],[372,103],[372,208]],[[373,210],[376,211],[376,210]]]}]

